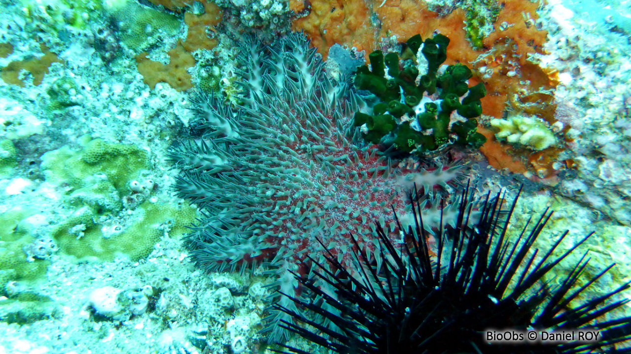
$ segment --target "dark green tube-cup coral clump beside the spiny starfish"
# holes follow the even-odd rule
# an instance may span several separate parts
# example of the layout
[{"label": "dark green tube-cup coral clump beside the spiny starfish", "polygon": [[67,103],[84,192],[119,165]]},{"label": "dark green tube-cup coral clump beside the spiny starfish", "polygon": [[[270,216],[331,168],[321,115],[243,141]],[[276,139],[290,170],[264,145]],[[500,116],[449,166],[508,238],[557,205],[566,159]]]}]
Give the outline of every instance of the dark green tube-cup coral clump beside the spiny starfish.
[{"label": "dark green tube-cup coral clump beside the spiny starfish", "polygon": [[[462,64],[448,66],[439,75],[447,59],[447,45],[449,38],[440,34],[425,41],[415,35],[406,42],[419,63],[421,56],[425,58],[426,67],[410,65],[410,60],[401,67],[399,56],[393,52],[384,56],[376,50],[369,55],[370,69],[357,69],[355,86],[370,91],[381,102],[372,107],[372,115],[355,114],[355,126],[362,127],[365,140],[373,144],[389,141],[401,151],[420,154],[447,144],[475,149],[484,144],[486,138],[476,132],[475,118],[482,113],[480,99],[486,95],[485,86],[479,83],[469,88],[467,80],[473,73]],[[427,72],[418,77],[425,69]],[[460,116],[456,122],[452,122],[454,112]]]}]

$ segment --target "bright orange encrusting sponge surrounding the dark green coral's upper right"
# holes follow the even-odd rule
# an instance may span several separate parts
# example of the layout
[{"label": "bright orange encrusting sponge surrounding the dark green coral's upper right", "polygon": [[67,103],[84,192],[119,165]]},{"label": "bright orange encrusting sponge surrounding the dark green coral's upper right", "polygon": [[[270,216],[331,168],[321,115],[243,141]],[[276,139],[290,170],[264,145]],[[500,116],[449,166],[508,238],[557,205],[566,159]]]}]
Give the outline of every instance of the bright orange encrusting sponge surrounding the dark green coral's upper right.
[{"label": "bright orange encrusting sponge surrounding the dark green coral's upper right", "polygon": [[[557,85],[556,74],[528,61],[529,54],[543,52],[547,35],[536,28],[536,3],[498,0],[500,11],[494,31],[483,40],[483,50],[474,50],[469,44],[466,13],[460,8],[444,15],[431,11],[423,0],[292,0],[290,4],[297,17],[294,30],[304,30],[325,58],[334,43],[369,54],[380,49],[380,38],[396,36],[403,42],[416,34],[432,37],[438,31],[450,39],[445,64],[471,66],[474,77],[469,84],[485,84],[487,96],[481,100],[485,115],[501,118],[510,103],[512,108],[549,123],[555,120],[556,106],[546,92]],[[539,173],[543,164],[548,166],[555,160],[546,150],[535,166],[527,151],[517,154],[513,147],[497,142],[491,130],[479,127],[478,131],[488,139],[481,151],[495,168],[514,173],[534,169]]]}]

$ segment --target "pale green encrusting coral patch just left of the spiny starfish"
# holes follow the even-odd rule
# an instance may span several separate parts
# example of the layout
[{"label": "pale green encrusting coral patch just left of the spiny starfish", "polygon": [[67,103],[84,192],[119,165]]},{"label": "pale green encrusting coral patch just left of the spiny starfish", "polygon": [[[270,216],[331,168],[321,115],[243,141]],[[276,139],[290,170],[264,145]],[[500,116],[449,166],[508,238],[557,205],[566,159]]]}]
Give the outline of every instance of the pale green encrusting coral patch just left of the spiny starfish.
[{"label": "pale green encrusting coral patch just left of the spiny starfish", "polygon": [[[165,232],[172,237],[184,234],[196,217],[196,209],[188,205],[144,200],[146,195],[134,194],[139,190],[130,188],[130,183],[149,167],[147,152],[139,147],[94,139],[80,150],[62,147],[47,152],[42,161],[46,180],[67,186],[68,202],[75,208],[51,232],[64,254],[139,260]],[[127,205],[129,209],[121,213],[121,198],[144,202],[133,208]]]}]

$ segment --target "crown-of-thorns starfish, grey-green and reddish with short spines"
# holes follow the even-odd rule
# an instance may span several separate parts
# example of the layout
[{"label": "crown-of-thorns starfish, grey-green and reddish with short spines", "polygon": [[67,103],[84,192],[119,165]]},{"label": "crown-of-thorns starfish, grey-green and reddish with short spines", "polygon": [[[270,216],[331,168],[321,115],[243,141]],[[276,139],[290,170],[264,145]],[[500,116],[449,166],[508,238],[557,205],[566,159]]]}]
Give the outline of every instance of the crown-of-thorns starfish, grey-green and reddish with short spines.
[{"label": "crown-of-thorns starfish, grey-green and reddish with short spines", "polygon": [[[182,171],[180,195],[204,210],[187,240],[207,270],[261,266],[276,274],[281,292],[299,296],[291,271],[309,271],[306,254],[324,261],[316,237],[343,263],[351,261],[351,234],[377,256],[370,220],[399,242],[384,215],[394,208],[403,223],[406,215],[413,220],[406,205],[415,183],[425,191],[451,190],[462,179],[462,166],[394,161],[379,146],[361,142],[352,117],[365,103],[348,83],[326,75],[304,35],[288,35],[271,47],[250,40],[241,51],[242,105],[233,110],[200,96],[201,135],[171,152]],[[440,220],[433,200],[425,198],[423,220]],[[451,212],[445,208],[444,223],[454,222]],[[298,311],[291,300],[278,301]],[[286,339],[275,325],[281,319],[291,321],[278,311],[268,317],[271,341]]]}]

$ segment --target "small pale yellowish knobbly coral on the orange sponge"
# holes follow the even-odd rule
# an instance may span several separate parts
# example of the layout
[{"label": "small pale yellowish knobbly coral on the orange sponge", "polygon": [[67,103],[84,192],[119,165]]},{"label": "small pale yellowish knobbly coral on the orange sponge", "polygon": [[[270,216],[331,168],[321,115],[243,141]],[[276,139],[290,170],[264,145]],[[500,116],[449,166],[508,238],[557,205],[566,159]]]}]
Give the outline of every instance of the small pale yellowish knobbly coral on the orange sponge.
[{"label": "small pale yellowish knobbly coral on the orange sponge", "polygon": [[506,139],[510,144],[522,144],[533,150],[543,150],[557,142],[554,133],[539,118],[515,116],[493,119],[490,124],[499,130],[495,137]]}]

